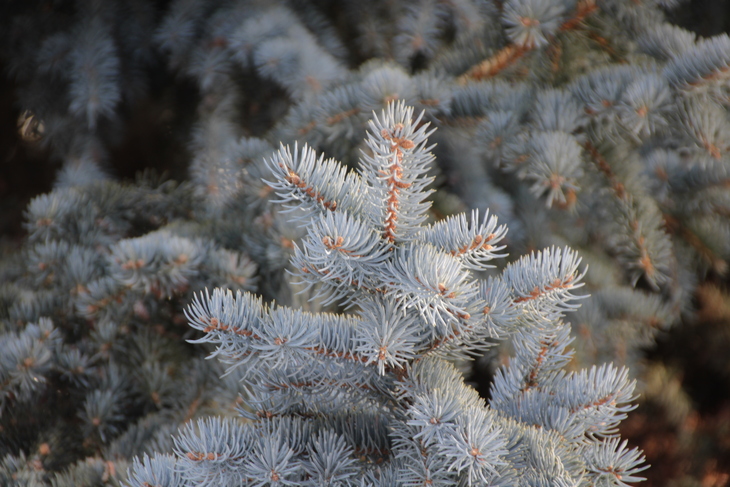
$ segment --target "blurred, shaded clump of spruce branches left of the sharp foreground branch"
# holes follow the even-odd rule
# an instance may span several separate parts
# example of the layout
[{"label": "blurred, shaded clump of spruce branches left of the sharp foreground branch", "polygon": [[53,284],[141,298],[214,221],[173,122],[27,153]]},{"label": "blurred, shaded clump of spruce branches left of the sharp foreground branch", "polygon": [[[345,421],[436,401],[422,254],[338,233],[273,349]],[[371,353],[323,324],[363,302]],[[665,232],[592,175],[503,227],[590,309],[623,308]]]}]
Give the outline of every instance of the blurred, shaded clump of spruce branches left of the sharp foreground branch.
[{"label": "blurred, shaded clump of spruce branches left of the sharp foreground branch", "polygon": [[212,283],[254,289],[256,266],[193,217],[189,184],[66,183],[31,201],[26,245],[0,263],[4,486],[111,485],[237,398],[185,346],[183,305]]}]

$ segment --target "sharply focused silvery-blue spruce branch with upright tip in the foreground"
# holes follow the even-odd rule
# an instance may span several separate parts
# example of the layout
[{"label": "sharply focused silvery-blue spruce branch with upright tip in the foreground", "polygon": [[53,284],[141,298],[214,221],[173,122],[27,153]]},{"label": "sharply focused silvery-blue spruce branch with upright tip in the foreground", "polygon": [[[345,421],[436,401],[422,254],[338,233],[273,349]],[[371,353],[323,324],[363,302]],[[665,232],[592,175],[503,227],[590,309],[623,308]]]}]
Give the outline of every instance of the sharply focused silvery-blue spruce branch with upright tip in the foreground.
[{"label": "sharply focused silvery-blue spruce branch with upright tip in the foreground", "polygon": [[[501,277],[475,272],[506,233],[477,212],[427,218],[428,124],[390,104],[370,122],[359,173],[282,148],[270,183],[307,237],[300,279],[353,314],[198,295],[198,342],[244,369],[250,421],[189,423],[175,455],[135,460],[134,486],[628,485],[647,468],[617,425],[634,382],[612,365],[566,372],[580,258],[551,248]],[[301,210],[304,210],[302,212]],[[451,360],[512,339],[487,405]]]}]

